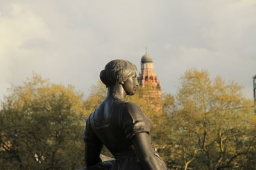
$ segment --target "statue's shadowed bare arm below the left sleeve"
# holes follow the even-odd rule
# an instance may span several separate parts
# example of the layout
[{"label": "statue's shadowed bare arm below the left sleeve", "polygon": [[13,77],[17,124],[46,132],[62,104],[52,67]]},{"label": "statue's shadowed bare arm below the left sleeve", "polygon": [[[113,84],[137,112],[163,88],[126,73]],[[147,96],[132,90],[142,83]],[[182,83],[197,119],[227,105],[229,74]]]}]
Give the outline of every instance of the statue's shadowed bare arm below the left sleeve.
[{"label": "statue's shadowed bare arm below the left sleeve", "polygon": [[85,144],[85,165],[86,167],[93,166],[99,162],[102,162],[100,159],[100,152],[102,150],[102,143],[86,143]]}]

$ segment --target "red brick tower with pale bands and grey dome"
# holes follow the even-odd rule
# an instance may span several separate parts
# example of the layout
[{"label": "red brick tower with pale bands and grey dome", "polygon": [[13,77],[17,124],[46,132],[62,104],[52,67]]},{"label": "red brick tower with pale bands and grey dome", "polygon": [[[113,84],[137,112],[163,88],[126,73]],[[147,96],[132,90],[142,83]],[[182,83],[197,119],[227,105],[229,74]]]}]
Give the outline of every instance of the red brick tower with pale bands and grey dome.
[{"label": "red brick tower with pale bands and grey dome", "polygon": [[149,99],[149,101],[161,99],[161,84],[154,72],[152,57],[147,52],[141,58],[141,73],[139,74],[138,81],[141,87],[148,88],[148,94],[143,94],[143,98]]}]

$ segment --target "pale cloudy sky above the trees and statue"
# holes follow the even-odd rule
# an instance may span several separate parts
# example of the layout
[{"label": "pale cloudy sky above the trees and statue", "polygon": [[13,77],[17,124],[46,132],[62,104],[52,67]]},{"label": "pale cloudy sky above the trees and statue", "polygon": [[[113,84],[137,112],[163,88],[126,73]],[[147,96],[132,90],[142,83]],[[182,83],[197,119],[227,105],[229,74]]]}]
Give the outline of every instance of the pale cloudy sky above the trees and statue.
[{"label": "pale cloudy sky above the trees and statue", "polygon": [[113,59],[147,52],[164,93],[207,69],[253,98],[255,0],[0,0],[0,97],[33,73],[90,93]]}]

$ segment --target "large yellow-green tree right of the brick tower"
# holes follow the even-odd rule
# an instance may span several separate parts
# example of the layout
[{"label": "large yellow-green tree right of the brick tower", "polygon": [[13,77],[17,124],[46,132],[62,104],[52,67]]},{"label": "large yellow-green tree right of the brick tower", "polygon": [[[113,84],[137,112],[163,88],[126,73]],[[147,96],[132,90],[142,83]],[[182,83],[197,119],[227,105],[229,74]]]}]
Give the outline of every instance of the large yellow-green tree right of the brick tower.
[{"label": "large yellow-green tree right of the brick tower", "polygon": [[[172,115],[173,155],[184,169],[243,169],[238,163],[255,145],[251,101],[242,87],[213,81],[208,71],[190,69],[181,78]],[[182,163],[183,162],[183,163]]]}]

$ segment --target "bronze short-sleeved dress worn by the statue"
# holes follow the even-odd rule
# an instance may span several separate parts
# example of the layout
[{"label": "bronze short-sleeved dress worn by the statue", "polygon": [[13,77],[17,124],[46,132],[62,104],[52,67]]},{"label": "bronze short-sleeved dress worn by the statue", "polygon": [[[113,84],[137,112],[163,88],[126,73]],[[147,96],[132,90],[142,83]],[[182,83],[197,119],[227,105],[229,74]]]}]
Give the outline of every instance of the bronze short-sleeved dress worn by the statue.
[{"label": "bronze short-sleeved dress worn by the statue", "polygon": [[[115,97],[108,100],[108,104],[103,102],[86,121],[84,141],[105,145],[115,160],[99,162],[87,169],[142,170],[131,139],[141,132],[150,135],[151,129],[152,122],[136,104]],[[151,147],[149,152],[154,154],[161,170],[166,170],[154,148]]]}]

